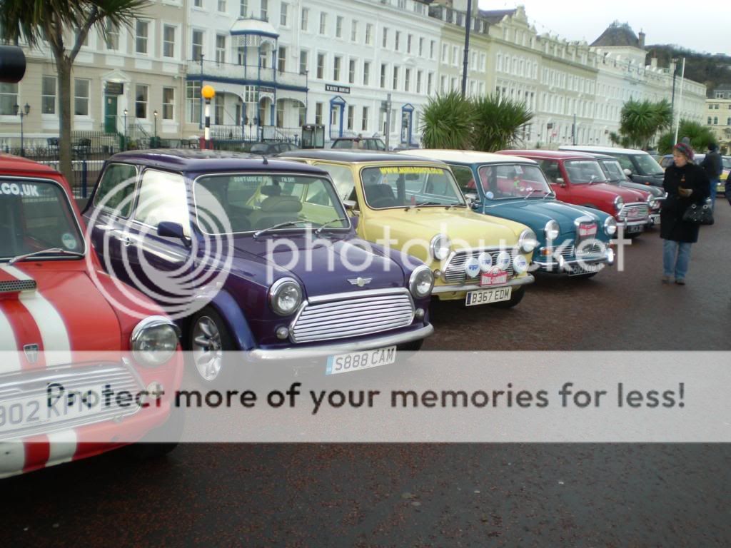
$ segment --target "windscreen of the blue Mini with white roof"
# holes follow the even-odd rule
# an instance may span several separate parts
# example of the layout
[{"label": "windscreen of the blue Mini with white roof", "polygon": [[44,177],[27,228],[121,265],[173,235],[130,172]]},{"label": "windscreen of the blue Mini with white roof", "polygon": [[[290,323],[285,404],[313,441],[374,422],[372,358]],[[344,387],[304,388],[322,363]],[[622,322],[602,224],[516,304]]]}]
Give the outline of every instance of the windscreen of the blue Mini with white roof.
[{"label": "windscreen of the blue Mini with white roof", "polygon": [[491,164],[477,172],[487,199],[543,198],[553,192],[538,166]]}]

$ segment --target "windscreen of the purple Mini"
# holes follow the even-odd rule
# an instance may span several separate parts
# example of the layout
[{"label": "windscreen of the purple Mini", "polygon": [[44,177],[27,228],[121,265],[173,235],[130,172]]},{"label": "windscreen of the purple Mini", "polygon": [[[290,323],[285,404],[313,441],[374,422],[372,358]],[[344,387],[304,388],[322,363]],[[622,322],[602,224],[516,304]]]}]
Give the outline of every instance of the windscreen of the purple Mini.
[{"label": "windscreen of the purple Mini", "polygon": [[195,217],[202,232],[249,232],[287,224],[287,229],[327,225],[346,229],[350,222],[326,178],[308,175],[203,175],[193,186]]}]

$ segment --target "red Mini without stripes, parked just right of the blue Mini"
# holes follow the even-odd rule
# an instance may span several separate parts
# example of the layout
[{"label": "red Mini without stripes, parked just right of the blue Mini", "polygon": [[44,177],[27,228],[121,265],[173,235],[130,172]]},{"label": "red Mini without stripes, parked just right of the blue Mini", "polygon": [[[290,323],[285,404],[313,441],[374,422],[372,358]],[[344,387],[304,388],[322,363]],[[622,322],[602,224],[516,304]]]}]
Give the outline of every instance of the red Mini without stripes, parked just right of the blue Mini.
[{"label": "red Mini without stripes, parked just right of the blue Mini", "polygon": [[608,184],[602,167],[591,154],[542,150],[499,154],[537,161],[557,199],[609,213],[618,224],[624,224],[626,235],[639,235],[650,224],[650,194]]}]

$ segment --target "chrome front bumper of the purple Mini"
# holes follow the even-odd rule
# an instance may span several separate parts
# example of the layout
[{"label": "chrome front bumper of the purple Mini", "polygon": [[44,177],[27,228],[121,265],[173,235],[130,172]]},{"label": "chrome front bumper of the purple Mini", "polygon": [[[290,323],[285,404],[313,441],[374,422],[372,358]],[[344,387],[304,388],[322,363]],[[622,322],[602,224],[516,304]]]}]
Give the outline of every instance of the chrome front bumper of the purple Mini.
[{"label": "chrome front bumper of the purple Mini", "polygon": [[327,357],[344,352],[382,349],[387,346],[411,343],[414,340],[426,338],[433,332],[434,327],[431,324],[426,324],[409,331],[380,335],[378,337],[368,338],[367,340],[356,340],[349,343],[327,343],[301,348],[289,346],[284,349],[252,349],[246,352],[246,357],[251,362],[277,362],[288,359]]}]

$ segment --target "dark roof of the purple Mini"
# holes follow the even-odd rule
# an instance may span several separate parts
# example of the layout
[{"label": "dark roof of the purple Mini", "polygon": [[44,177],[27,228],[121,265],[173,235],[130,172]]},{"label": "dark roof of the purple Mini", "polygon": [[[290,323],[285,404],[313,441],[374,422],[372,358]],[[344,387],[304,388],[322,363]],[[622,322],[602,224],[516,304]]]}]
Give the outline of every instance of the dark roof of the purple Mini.
[{"label": "dark roof of the purple Mini", "polygon": [[301,162],[286,161],[258,154],[228,151],[199,151],[193,148],[157,148],[150,151],[126,151],[112,156],[107,162],[124,161],[148,167],[174,171],[260,170],[301,171],[323,175],[317,167]]}]

